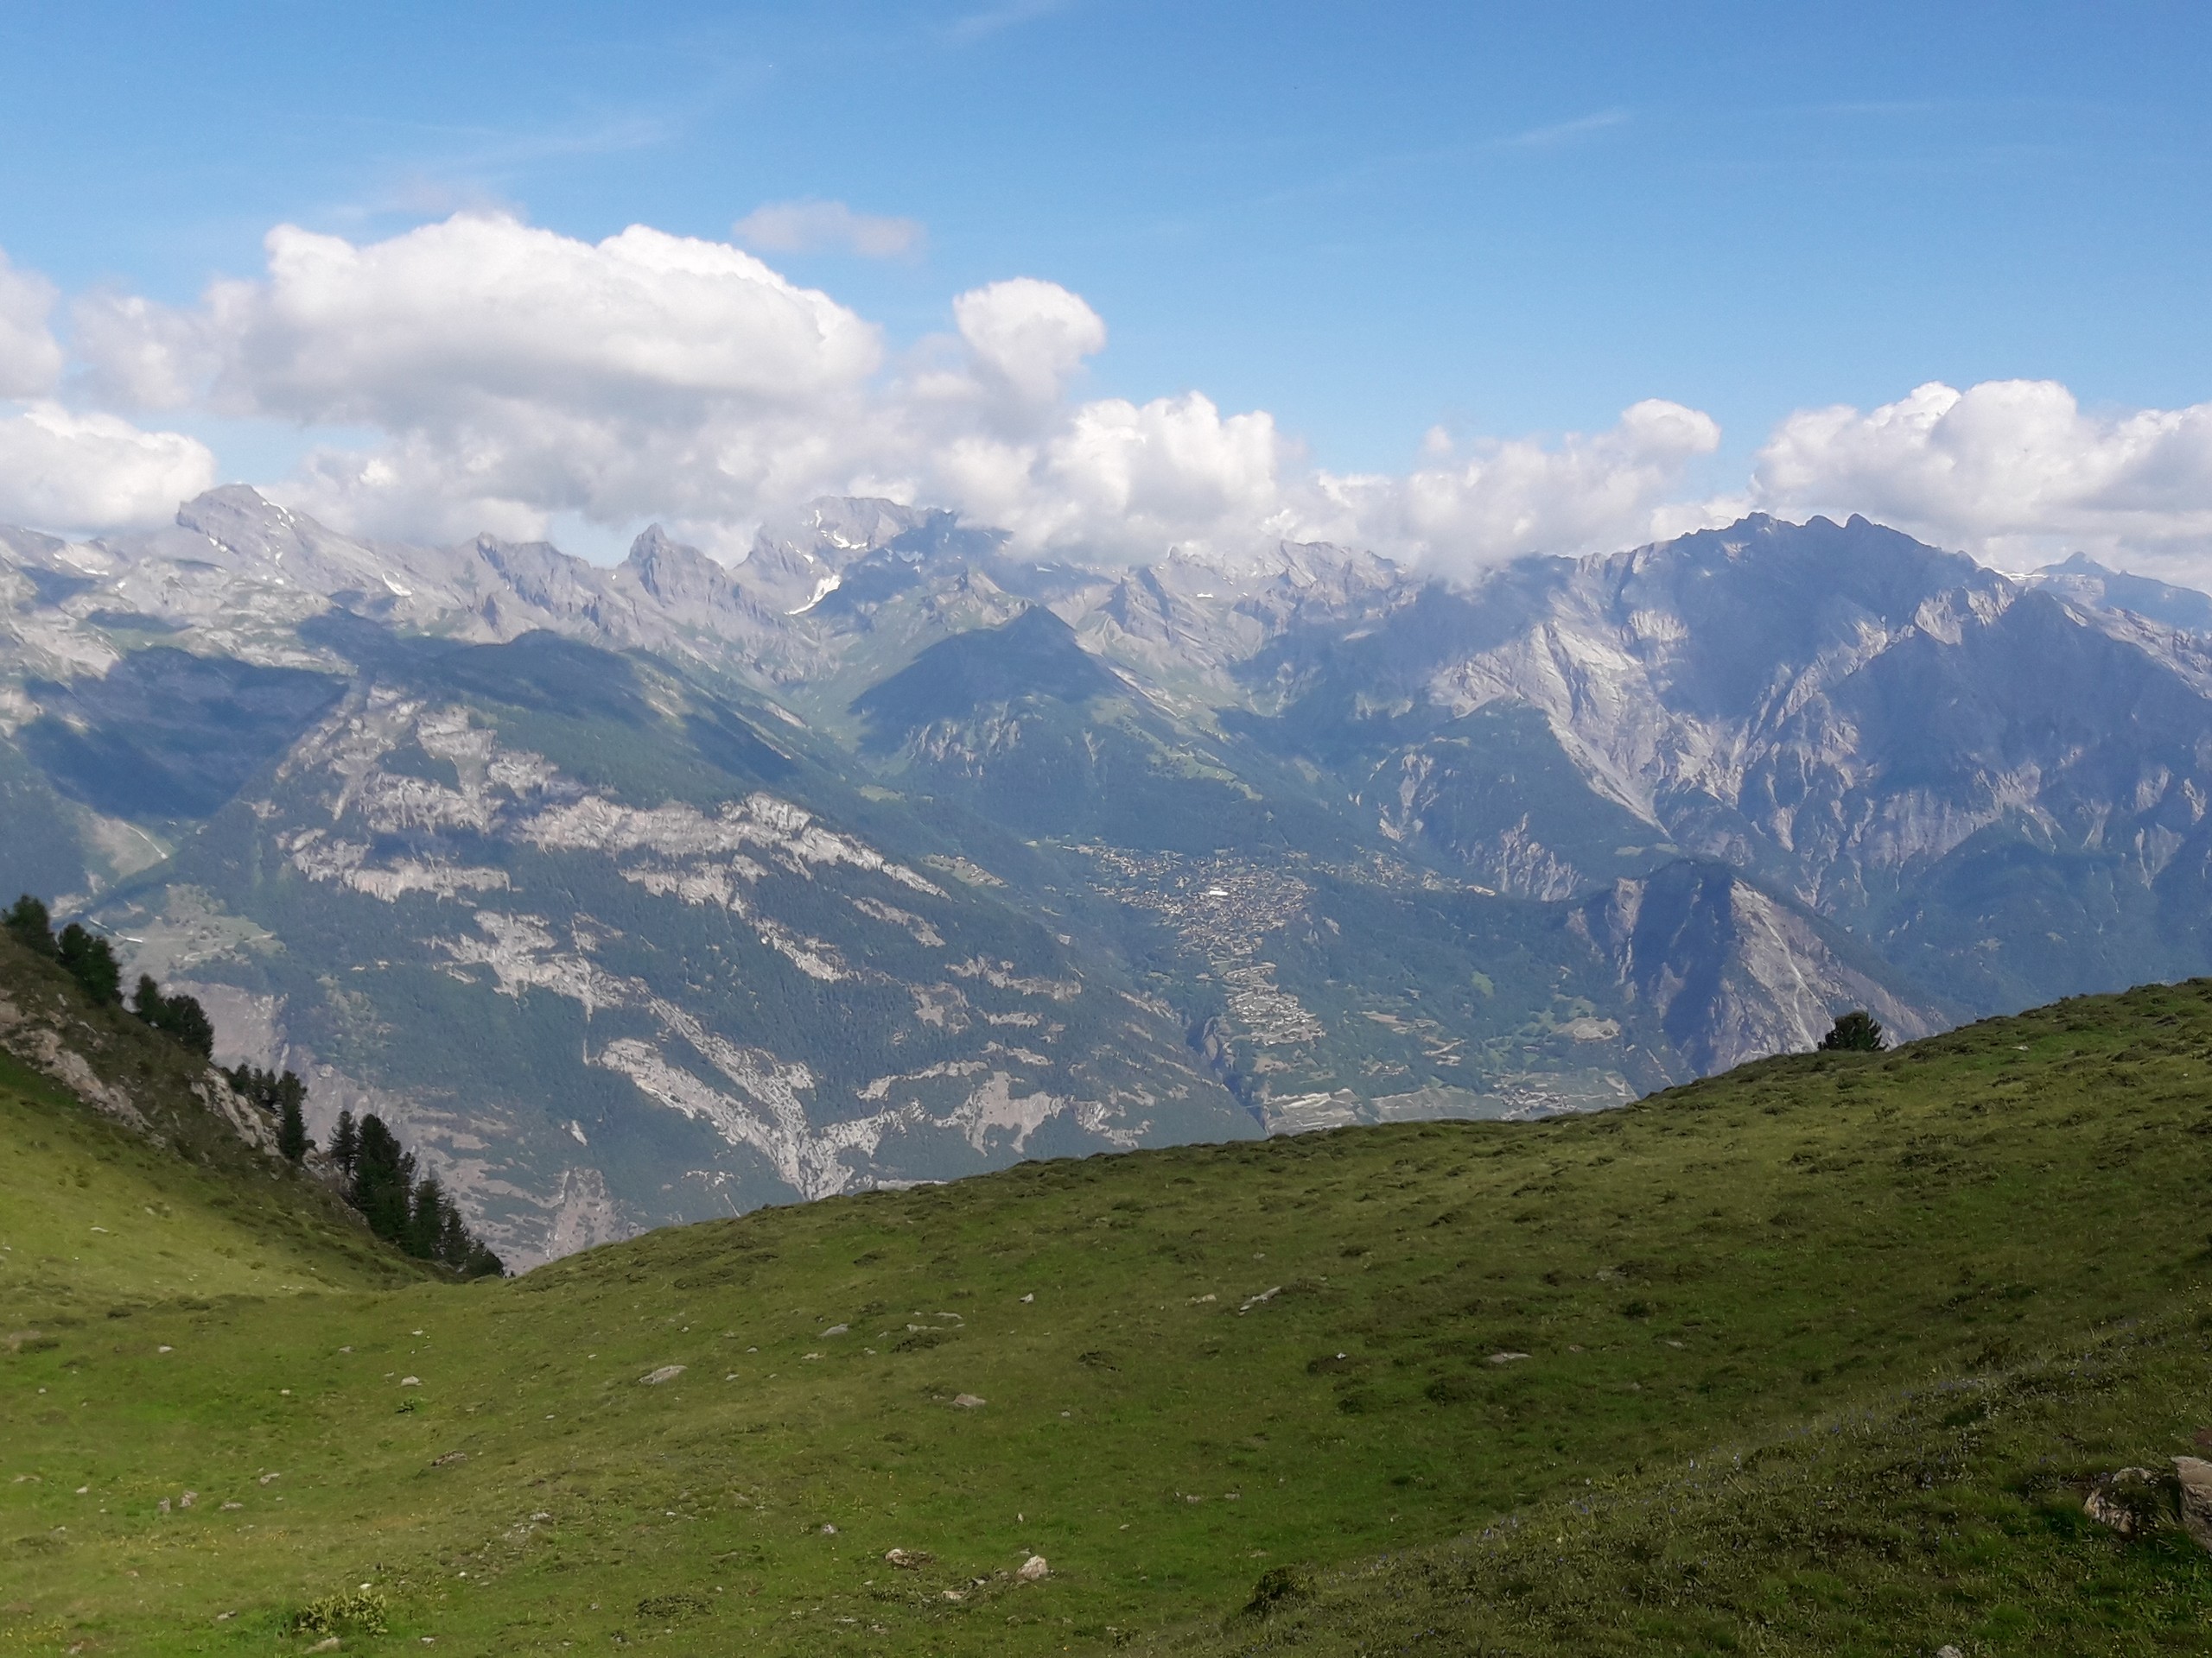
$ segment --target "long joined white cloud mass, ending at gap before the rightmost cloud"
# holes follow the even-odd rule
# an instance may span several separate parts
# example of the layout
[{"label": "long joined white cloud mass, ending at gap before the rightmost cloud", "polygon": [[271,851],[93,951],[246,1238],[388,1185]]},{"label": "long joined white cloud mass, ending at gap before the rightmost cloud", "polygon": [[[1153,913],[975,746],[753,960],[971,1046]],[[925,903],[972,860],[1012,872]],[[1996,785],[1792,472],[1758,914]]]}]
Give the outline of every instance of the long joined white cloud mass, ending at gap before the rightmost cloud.
[{"label": "long joined white cloud mass, ending at gap before the rightmost cloud", "polygon": [[80,385],[325,433],[290,497],[380,535],[664,517],[737,548],[818,493],[940,502],[1026,546],[1157,557],[1334,537],[1451,566],[1648,531],[1712,422],[1646,402],[1597,436],[1436,449],[1407,478],[1312,471],[1265,411],[1199,391],[1077,400],[1106,323],[1018,276],[885,363],[878,329],[739,248],[633,225],[584,243],[456,214],[376,243],[279,225],[199,305],[75,307]]}]

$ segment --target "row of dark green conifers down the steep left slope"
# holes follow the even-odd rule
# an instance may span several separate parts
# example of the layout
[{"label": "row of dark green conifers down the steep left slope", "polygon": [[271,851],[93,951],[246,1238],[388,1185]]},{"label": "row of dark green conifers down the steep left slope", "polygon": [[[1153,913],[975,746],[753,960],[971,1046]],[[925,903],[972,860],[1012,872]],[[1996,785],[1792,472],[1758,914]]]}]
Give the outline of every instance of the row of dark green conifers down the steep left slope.
[{"label": "row of dark green conifers down the steep left slope", "polygon": [[[55,935],[44,900],[24,893],[0,915],[9,937],[33,955],[55,962],[95,1006],[122,1004],[122,970],[113,946],[82,924],[71,922]],[[208,1059],[215,1050],[215,1026],[195,997],[164,995],[153,975],[142,973],[131,1010],[150,1028]],[[288,1163],[305,1163],[307,1085],[290,1070],[272,1072],[239,1063],[226,1072],[232,1094],[274,1123],[274,1147]],[[504,1273],[504,1265],[482,1242],[445,1194],[436,1174],[418,1167],[374,1112],[354,1121],[338,1112],[330,1147],[319,1158],[319,1172],[334,1176],[338,1192],[369,1222],[369,1229],[405,1249],[416,1260],[429,1260],[467,1278]]]}]

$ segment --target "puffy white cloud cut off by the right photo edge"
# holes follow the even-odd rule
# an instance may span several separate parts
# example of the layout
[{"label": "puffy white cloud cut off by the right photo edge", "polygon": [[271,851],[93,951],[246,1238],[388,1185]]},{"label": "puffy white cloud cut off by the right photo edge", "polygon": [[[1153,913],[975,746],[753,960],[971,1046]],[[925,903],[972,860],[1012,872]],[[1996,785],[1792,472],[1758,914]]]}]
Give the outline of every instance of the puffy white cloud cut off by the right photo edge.
[{"label": "puffy white cloud cut off by the right photo edge", "polygon": [[1759,451],[1761,506],[1865,513],[2008,568],[2086,548],[2212,575],[2212,405],[2081,413],[2055,380],[1942,382],[1803,409]]}]

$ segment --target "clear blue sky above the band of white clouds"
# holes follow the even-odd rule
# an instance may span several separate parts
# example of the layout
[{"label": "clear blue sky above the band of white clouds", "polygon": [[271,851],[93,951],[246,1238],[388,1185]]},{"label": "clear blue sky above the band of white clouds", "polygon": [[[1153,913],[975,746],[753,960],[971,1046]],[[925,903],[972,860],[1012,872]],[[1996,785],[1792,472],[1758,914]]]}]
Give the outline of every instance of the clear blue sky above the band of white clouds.
[{"label": "clear blue sky above the band of white clouds", "polygon": [[1082,396],[1201,389],[1349,471],[1666,398],[1725,493],[1792,411],[1929,380],[2212,398],[2208,46],[2203,4],[15,4],[0,248],[188,307],[276,223],[843,201],[927,239],[763,256],[891,347],[1035,276],[1108,327]]}]

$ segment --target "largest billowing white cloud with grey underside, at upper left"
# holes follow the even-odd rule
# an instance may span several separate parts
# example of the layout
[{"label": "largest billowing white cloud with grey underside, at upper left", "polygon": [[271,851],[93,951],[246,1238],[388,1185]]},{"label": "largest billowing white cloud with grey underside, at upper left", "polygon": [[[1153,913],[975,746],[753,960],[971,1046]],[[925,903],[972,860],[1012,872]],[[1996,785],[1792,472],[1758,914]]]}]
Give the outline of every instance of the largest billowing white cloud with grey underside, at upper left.
[{"label": "largest billowing white cloud with grey underside, at upper left", "polygon": [[88,376],[139,407],[380,431],[299,478],[361,531],[743,517],[836,475],[869,422],[876,327],[726,243],[456,214],[365,245],[279,225],[265,254],[190,309],[86,305]]}]

